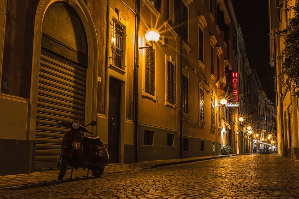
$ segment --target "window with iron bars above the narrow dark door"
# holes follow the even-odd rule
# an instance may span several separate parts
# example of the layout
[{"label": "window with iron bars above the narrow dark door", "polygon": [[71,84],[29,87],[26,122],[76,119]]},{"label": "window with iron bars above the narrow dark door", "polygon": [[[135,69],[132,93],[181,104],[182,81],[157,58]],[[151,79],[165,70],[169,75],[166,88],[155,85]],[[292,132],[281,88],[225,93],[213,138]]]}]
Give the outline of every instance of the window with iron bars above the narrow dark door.
[{"label": "window with iron bars above the narrow dark door", "polygon": [[115,19],[112,19],[111,37],[111,64],[121,68],[123,60],[123,31],[124,27]]}]

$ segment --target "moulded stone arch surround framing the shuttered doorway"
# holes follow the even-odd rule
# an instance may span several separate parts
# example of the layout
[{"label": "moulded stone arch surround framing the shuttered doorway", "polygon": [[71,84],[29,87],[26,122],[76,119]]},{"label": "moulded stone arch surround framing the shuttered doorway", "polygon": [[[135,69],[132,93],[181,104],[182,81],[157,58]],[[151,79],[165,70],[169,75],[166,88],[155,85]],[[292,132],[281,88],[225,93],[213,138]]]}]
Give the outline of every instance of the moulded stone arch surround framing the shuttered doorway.
[{"label": "moulded stone arch surround framing the shuttered doorway", "polygon": [[[56,2],[65,2],[72,7],[79,16],[85,29],[87,38],[87,59],[86,71],[86,105],[85,105],[85,121],[90,121],[96,118],[96,92],[97,92],[97,59],[98,59],[98,41],[94,27],[94,22],[91,18],[88,8],[83,0],[41,0],[36,8],[36,16],[34,20],[34,36],[33,36],[33,58],[31,72],[31,90],[30,90],[30,106],[28,110],[28,131],[27,138],[34,139],[36,129],[36,110],[37,110],[37,95],[38,95],[38,77],[39,77],[39,62],[40,49],[42,39],[42,24],[46,11]],[[95,131],[95,127],[91,127]]]}]

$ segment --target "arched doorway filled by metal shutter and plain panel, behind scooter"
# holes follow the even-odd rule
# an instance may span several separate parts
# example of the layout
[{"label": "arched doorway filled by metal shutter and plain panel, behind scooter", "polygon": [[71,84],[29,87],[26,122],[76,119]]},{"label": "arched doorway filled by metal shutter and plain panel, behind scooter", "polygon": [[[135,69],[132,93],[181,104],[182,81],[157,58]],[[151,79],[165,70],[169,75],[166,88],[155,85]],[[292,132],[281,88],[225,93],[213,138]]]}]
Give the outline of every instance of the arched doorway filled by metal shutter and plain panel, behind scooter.
[{"label": "arched doorway filled by metal shutter and plain panel, behind scooter", "polygon": [[56,168],[67,129],[85,122],[87,39],[76,11],[55,2],[45,12],[39,61],[35,169]]}]

